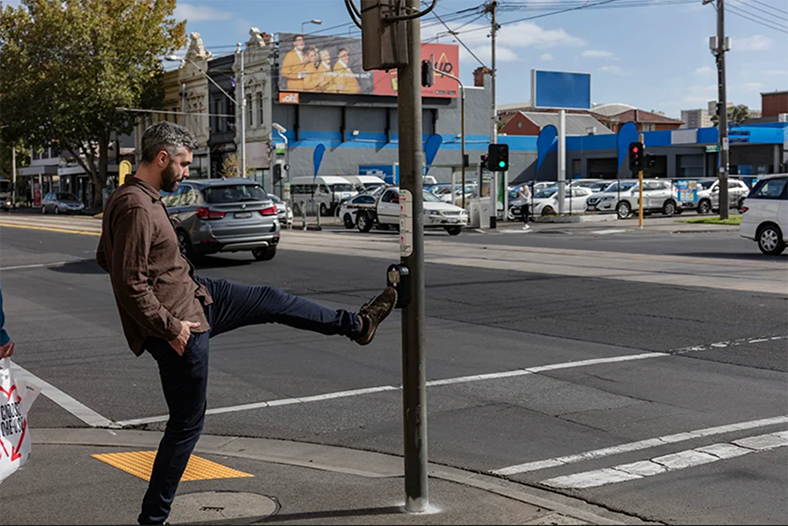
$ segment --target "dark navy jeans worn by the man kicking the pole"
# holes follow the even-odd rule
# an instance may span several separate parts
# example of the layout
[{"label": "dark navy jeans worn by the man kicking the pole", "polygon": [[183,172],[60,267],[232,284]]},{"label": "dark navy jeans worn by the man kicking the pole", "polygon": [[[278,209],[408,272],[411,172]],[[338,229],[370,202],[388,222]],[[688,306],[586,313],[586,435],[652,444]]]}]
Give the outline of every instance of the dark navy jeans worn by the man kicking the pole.
[{"label": "dark navy jeans worn by the man kicking the pole", "polygon": [[281,323],[327,335],[354,338],[361,334],[358,316],[345,310],[327,309],[272,287],[236,285],[226,280],[197,278],[213,303],[205,307],[211,329],[192,333],[183,356],[169,343],[149,338],[146,350],[159,365],[159,376],[170,419],[159,444],[145,498],[140,524],[162,524],[178,489],[186,464],[203,429],[208,386],[209,339],[246,325]]}]

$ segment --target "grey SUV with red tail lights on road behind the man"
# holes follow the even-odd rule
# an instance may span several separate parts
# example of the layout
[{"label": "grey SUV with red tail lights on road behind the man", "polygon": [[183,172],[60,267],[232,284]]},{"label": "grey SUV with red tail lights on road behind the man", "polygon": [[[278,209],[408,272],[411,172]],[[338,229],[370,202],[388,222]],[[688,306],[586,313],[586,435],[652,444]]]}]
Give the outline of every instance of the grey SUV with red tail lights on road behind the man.
[{"label": "grey SUV with red tail lights on road behind the man", "polygon": [[244,250],[258,261],[276,256],[279,211],[272,196],[254,181],[187,180],[162,201],[187,257]]}]

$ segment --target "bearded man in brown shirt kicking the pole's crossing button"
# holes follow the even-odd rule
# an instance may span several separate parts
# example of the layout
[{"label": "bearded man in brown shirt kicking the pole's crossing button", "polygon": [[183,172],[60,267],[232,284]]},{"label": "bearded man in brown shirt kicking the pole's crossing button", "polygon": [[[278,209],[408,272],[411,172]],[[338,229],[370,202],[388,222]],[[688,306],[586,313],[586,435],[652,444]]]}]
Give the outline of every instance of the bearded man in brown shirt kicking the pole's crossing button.
[{"label": "bearded man in brown shirt kicking the pole's crossing button", "polygon": [[280,323],[367,345],[397,302],[386,288],[357,312],[333,310],[273,287],[200,278],[178,248],[160,191],[188,177],[194,135],[167,121],[145,130],[142,163],[115,190],[102,220],[96,260],[109,273],[123,332],[137,356],[158,363],[169,420],[137,518],[163,524],[203,430],[209,338]]}]

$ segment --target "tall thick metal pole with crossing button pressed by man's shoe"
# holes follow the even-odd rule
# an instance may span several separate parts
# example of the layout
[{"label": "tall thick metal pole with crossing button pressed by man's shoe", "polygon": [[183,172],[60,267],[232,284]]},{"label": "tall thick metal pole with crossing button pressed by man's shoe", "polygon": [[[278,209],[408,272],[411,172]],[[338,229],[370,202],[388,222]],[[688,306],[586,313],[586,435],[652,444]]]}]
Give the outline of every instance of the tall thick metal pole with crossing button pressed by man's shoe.
[{"label": "tall thick metal pole with crossing button pressed by man's shoe", "polygon": [[[410,12],[419,0],[404,2]],[[421,177],[421,22],[405,28],[408,63],[397,68],[399,94],[400,257],[410,271],[410,305],[402,311],[402,402],[405,444],[405,508],[427,511],[427,373],[424,354],[424,215]]]}]

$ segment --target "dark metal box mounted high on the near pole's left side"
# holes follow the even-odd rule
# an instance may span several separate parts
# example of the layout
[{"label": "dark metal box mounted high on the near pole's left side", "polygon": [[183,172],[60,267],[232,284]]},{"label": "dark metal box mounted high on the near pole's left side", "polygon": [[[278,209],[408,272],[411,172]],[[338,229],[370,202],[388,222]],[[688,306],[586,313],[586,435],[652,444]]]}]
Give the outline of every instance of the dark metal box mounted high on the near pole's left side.
[{"label": "dark metal box mounted high on the near pole's left side", "polygon": [[395,69],[409,63],[405,24],[385,20],[397,15],[398,4],[398,0],[361,0],[361,58],[365,71]]}]

